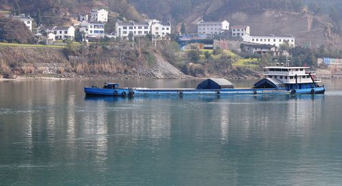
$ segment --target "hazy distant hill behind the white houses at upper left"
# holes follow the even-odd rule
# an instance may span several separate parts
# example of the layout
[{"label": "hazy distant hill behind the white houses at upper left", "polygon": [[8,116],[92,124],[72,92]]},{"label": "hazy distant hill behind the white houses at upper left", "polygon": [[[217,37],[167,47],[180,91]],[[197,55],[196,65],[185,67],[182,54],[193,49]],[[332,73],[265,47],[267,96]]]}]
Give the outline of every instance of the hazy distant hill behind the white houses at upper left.
[{"label": "hazy distant hill behind the white houses at upper left", "polygon": [[142,17],[129,0],[0,0],[0,10],[13,14],[29,14],[37,18],[40,12],[45,25],[68,23],[72,16],[88,13],[94,8],[111,9],[111,12],[117,12],[129,20]]}]

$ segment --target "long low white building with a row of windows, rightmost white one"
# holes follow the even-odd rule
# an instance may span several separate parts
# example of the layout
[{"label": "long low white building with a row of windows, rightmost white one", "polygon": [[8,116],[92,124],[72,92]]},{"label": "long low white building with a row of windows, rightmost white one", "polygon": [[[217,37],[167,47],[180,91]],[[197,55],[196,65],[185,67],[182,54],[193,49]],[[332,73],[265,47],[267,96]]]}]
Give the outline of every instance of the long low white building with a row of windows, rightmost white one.
[{"label": "long low white building with a row of windows, rightmost white one", "polygon": [[244,42],[253,42],[258,44],[271,44],[276,47],[279,47],[280,44],[284,44],[285,42],[289,43],[290,47],[295,47],[295,37],[294,36],[250,36],[249,34],[245,34],[242,36]]}]

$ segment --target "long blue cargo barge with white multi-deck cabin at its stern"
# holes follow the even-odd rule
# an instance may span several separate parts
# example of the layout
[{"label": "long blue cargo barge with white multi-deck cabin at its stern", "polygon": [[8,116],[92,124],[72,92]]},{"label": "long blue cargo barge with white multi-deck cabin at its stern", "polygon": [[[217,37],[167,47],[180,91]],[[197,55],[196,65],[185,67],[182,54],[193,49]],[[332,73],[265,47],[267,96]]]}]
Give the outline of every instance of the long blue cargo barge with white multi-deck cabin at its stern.
[{"label": "long blue cargo barge with white multi-deck cabin at its stern", "polygon": [[157,96],[157,95],[225,95],[225,94],[324,94],[314,72],[308,67],[269,66],[264,78],[253,88],[235,88],[226,79],[207,79],[197,88],[120,88],[118,83],[105,83],[103,88],[84,88],[87,95],[98,96]]}]

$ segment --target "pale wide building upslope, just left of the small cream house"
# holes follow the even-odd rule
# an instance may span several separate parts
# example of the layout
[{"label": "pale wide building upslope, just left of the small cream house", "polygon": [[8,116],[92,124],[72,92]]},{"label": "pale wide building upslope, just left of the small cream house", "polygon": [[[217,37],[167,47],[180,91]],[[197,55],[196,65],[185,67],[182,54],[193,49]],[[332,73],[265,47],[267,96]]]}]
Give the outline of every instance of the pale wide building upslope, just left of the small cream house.
[{"label": "pale wide building upslope, just left of the small cream house", "polygon": [[198,34],[220,34],[229,30],[228,21],[203,21],[197,23]]}]

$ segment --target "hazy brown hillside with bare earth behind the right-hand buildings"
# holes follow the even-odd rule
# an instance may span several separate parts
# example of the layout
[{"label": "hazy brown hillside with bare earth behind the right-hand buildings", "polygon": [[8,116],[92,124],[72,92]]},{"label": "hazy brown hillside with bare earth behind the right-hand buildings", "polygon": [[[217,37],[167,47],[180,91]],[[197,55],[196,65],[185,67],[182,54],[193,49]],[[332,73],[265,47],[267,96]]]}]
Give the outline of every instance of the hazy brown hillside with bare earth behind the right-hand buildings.
[{"label": "hazy brown hillside with bare earth behind the right-hand buildings", "polygon": [[[250,25],[252,35],[294,35],[297,44],[319,47],[321,44],[339,49],[339,14],[341,1],[328,0],[211,0],[152,1],[132,0],[137,10],[176,25],[179,32],[184,22],[187,32],[196,32],[196,23],[228,20],[231,25]],[[159,8],[158,8],[159,7]],[[149,11],[153,8],[155,11]],[[334,11],[337,10],[337,14]]]}]

